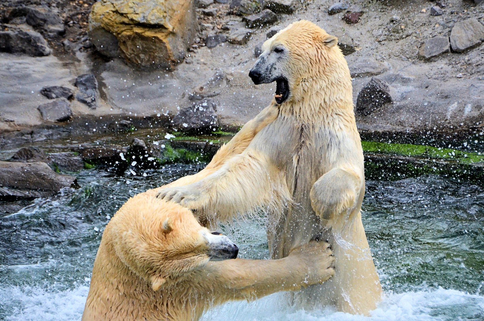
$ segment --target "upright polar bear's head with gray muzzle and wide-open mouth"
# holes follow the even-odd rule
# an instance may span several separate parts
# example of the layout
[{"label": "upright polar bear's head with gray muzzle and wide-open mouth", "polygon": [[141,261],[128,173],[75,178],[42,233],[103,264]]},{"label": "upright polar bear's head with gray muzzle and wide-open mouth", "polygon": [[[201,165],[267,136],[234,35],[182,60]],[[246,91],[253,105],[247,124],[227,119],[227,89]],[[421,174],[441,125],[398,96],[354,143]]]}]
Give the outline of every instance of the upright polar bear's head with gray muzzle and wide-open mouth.
[{"label": "upright polar bear's head with gray muzzle and wide-open mouth", "polygon": [[331,80],[334,75],[351,81],[337,42],[336,37],[312,22],[294,22],[264,42],[249,77],[255,84],[276,81],[278,104],[301,100],[304,87],[324,85],[320,82]]}]

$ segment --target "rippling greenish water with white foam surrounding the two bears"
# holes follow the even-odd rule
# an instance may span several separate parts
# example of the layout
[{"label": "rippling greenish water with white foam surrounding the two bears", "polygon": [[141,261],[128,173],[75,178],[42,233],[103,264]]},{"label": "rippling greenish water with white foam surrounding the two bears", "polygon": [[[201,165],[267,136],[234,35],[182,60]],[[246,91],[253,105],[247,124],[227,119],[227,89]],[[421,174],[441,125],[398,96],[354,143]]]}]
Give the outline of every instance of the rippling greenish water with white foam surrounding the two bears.
[{"label": "rippling greenish water with white foam surrounding the two bears", "polygon": [[[80,320],[110,217],[129,196],[202,168],[142,176],[100,170],[81,186],[0,219],[0,320]],[[484,320],[484,191],[437,176],[368,181],[363,225],[385,291],[371,317],[290,307],[282,294],[229,303],[203,320]],[[268,258],[264,219],[222,226],[242,258]]]}]

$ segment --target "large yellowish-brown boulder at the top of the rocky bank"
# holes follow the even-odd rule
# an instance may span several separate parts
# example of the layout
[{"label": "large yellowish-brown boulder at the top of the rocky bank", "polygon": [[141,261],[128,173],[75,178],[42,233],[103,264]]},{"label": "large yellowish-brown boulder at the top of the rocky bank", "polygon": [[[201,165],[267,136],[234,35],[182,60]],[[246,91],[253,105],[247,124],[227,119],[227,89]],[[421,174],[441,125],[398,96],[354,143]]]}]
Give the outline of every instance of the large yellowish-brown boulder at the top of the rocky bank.
[{"label": "large yellowish-brown boulder at the top of the rocky bank", "polygon": [[88,34],[101,53],[116,54],[103,30],[132,64],[172,70],[196,38],[198,23],[193,1],[101,0],[92,6]]}]

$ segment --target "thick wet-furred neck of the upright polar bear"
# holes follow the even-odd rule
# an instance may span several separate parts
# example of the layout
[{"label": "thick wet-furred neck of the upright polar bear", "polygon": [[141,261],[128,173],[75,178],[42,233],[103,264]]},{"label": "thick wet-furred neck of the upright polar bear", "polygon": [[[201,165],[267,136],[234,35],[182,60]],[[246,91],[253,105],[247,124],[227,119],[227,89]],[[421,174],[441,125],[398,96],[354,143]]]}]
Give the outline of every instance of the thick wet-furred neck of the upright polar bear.
[{"label": "thick wet-furred neck of the upright polar bear", "polygon": [[324,124],[339,119],[356,126],[353,87],[346,61],[304,75],[292,86],[291,97],[282,103],[281,113],[296,117],[304,124]]}]

